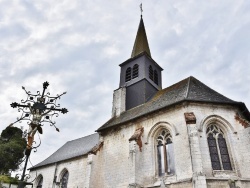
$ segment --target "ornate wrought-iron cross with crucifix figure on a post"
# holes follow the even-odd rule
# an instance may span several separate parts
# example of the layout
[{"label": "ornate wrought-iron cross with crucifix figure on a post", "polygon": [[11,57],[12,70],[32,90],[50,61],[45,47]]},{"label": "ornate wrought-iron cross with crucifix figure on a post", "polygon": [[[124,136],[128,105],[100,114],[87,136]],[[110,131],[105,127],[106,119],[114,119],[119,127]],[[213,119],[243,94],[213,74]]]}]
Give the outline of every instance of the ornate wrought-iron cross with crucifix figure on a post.
[{"label": "ornate wrought-iron cross with crucifix figure on a post", "polygon": [[21,122],[22,120],[27,120],[29,125],[29,130],[27,132],[27,146],[25,150],[26,155],[26,161],[25,166],[23,169],[23,174],[21,177],[21,181],[18,184],[18,188],[23,188],[27,182],[23,182],[25,177],[25,171],[27,167],[28,158],[30,156],[31,150],[33,148],[32,144],[34,142],[34,136],[36,132],[38,131],[40,134],[43,133],[42,130],[42,123],[49,123],[50,126],[54,126],[56,130],[59,132],[59,129],[55,126],[56,122],[53,120],[53,117],[59,116],[58,112],[61,112],[63,114],[66,114],[68,110],[66,108],[60,108],[60,104],[57,103],[57,100],[60,99],[60,97],[66,92],[57,95],[56,97],[51,97],[50,93],[47,92],[45,94],[46,89],[48,88],[49,83],[44,82],[43,83],[43,92],[42,94],[40,91],[37,91],[37,94],[31,94],[30,91],[27,91],[25,87],[22,87],[22,89],[27,94],[26,100],[21,100],[21,104],[17,102],[13,102],[10,104],[13,108],[18,108],[19,112],[22,112],[22,115],[20,118],[17,118],[17,120],[13,123],[11,123],[9,126],[13,126],[13,124],[17,122]]}]

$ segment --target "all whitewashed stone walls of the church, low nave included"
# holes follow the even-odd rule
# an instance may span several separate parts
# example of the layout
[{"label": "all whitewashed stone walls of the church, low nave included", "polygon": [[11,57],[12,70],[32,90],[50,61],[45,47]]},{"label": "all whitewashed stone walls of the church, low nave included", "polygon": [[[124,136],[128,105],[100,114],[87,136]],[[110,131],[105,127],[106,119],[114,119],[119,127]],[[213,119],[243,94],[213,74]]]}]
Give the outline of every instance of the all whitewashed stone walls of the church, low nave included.
[{"label": "all whitewashed stone walls of the church, low nave included", "polygon": [[[186,124],[185,112],[195,114],[196,124]],[[110,129],[102,133],[104,145],[96,155],[59,163],[57,181],[66,168],[70,188],[138,188],[163,184],[168,188],[229,188],[229,180],[240,188],[250,187],[250,128],[245,129],[235,120],[236,112],[231,106],[184,103]],[[212,170],[206,137],[209,123],[218,124],[226,135],[232,171]],[[144,127],[141,152],[135,141],[128,141],[139,127]],[[158,177],[155,143],[162,128],[172,134],[176,171],[163,178]],[[52,187],[54,172],[55,165],[37,170],[37,175],[43,175],[44,187]],[[34,173],[31,173],[33,177]]]}]

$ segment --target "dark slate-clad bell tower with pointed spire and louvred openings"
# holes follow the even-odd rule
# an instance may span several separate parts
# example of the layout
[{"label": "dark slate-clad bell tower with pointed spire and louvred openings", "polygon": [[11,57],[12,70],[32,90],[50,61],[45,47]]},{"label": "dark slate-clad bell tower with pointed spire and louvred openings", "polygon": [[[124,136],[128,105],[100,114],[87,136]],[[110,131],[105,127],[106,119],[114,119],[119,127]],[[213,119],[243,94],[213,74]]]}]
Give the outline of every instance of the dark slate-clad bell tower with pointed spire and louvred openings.
[{"label": "dark slate-clad bell tower with pointed spire and louvred openings", "polygon": [[131,57],[120,67],[120,85],[114,91],[112,116],[146,103],[162,88],[163,69],[151,57],[142,16]]}]

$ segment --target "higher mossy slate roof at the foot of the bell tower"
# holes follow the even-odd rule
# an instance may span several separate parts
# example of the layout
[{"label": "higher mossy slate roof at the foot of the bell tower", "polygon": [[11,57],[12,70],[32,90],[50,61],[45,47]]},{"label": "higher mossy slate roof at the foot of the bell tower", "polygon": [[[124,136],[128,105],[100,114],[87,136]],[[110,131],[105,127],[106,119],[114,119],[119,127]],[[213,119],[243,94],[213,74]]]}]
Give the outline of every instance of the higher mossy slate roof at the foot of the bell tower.
[{"label": "higher mossy slate roof at the foot of the bell tower", "polygon": [[244,110],[244,115],[250,119],[249,111],[244,103],[233,101],[221,95],[191,76],[170,87],[158,91],[147,103],[125,111],[121,113],[119,117],[111,118],[103,126],[97,129],[97,132],[129,122],[133,119],[183,101],[238,105],[242,111]]}]

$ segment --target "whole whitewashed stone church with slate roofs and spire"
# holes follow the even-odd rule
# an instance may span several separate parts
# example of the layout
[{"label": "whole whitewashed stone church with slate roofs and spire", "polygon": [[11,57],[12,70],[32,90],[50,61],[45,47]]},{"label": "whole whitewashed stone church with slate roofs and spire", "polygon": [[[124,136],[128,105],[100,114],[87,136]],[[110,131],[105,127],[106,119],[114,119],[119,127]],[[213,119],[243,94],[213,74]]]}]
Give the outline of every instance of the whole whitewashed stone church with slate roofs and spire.
[{"label": "whole whitewashed stone church with slate roofs and spire", "polygon": [[194,77],[162,89],[140,19],[112,117],[30,169],[34,188],[249,188],[250,113]]}]

